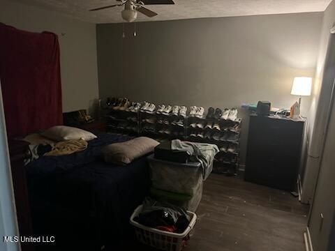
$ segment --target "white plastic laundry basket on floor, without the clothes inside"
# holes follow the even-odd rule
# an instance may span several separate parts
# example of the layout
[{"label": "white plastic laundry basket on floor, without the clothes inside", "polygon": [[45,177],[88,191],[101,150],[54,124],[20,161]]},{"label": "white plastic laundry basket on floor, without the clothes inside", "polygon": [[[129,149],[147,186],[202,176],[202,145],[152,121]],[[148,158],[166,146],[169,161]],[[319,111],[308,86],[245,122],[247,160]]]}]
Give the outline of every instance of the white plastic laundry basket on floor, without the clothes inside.
[{"label": "white plastic laundry basket on floor, without the clothes inside", "polygon": [[133,215],[131,215],[131,225],[135,227],[135,234],[137,240],[140,243],[150,245],[151,247],[158,248],[165,251],[181,251],[186,245],[189,239],[189,233],[195,225],[197,215],[191,211],[187,211],[191,218],[190,224],[181,234],[172,233],[168,231],[161,231],[152,227],[146,227],[138,222],[135,222],[134,218],[137,217],[142,211],[142,205],[137,206]]}]

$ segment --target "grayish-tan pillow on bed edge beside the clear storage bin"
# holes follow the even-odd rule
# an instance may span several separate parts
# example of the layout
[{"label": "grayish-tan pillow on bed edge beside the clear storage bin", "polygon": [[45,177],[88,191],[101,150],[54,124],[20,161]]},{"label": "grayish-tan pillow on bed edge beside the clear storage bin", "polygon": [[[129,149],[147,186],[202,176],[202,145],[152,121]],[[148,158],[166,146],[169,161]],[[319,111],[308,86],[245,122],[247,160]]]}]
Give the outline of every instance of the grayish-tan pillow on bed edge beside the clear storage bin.
[{"label": "grayish-tan pillow on bed edge beside the clear storage bin", "polygon": [[159,142],[149,137],[137,137],[127,142],[110,144],[102,151],[105,162],[124,165],[151,153],[158,144]]}]

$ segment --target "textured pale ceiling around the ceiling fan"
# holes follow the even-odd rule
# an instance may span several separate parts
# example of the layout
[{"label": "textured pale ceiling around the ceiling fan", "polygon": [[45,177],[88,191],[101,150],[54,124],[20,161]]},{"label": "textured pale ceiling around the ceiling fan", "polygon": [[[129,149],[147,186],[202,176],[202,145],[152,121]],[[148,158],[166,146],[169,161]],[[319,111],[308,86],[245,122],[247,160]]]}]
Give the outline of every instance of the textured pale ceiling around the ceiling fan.
[{"label": "textured pale ceiling around the ceiling fan", "polygon": [[[115,0],[17,0],[33,6],[56,10],[70,17],[94,22],[123,22],[122,7],[96,12],[91,8],[119,3]],[[305,13],[324,11],[332,0],[174,0],[174,5],[150,5],[156,17],[139,13],[137,21],[179,20],[199,17],[232,17],[242,15],[266,15],[281,13]]]}]

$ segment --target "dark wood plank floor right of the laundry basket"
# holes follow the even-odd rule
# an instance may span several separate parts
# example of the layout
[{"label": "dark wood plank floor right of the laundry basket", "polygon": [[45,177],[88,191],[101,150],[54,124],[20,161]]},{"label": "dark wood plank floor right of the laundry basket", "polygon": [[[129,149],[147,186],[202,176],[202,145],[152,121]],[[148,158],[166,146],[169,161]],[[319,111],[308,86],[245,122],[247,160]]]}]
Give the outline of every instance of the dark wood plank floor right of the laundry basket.
[{"label": "dark wood plank floor right of the laundry basket", "polygon": [[211,174],[185,251],[304,251],[308,206],[290,192]]}]

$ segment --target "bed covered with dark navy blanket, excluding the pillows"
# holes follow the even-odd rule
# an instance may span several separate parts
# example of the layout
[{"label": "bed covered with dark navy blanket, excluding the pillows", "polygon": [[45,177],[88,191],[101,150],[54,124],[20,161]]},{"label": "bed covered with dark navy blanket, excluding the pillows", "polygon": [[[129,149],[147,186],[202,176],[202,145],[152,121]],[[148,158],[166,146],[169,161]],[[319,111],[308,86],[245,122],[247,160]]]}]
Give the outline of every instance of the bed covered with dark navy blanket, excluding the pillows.
[{"label": "bed covered with dark navy blanket, excluding the pillows", "polygon": [[[120,245],[128,220],[150,186],[147,156],[120,166],[104,162],[101,148],[131,137],[94,132],[86,150],[43,156],[27,165],[34,234],[54,235],[55,250]],[[44,249],[43,249],[44,250]]]}]

